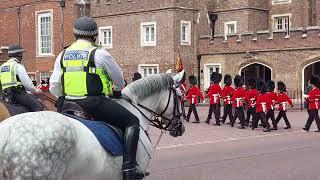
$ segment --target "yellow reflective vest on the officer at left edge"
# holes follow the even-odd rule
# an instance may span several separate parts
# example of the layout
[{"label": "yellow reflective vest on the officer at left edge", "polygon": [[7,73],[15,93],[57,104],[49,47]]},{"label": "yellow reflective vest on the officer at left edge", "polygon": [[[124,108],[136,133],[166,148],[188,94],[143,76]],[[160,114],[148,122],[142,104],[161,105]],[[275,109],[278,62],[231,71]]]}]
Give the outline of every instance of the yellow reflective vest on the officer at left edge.
[{"label": "yellow reflective vest on the officer at left edge", "polygon": [[19,87],[22,86],[18,76],[17,76],[17,66],[18,62],[10,59],[7,62],[3,63],[0,66],[1,70],[1,87],[2,90],[10,87]]}]

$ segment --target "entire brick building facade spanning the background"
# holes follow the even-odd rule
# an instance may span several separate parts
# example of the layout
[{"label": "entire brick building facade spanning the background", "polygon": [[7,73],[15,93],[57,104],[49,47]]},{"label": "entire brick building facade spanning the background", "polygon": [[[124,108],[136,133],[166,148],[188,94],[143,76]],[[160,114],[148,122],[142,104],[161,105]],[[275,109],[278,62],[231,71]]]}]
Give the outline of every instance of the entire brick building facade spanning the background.
[{"label": "entire brick building facade spanning the background", "polygon": [[[66,0],[63,33],[60,2],[2,3],[0,58],[7,45],[20,41],[27,49],[24,63],[38,79],[73,41],[73,20],[82,13],[97,21],[97,43],[129,81],[136,71],[174,69],[179,51],[187,74],[198,76],[202,89],[210,73],[219,71],[282,80],[299,98],[311,74],[320,74],[320,0]],[[48,11],[51,53],[39,55],[37,16]]]}]

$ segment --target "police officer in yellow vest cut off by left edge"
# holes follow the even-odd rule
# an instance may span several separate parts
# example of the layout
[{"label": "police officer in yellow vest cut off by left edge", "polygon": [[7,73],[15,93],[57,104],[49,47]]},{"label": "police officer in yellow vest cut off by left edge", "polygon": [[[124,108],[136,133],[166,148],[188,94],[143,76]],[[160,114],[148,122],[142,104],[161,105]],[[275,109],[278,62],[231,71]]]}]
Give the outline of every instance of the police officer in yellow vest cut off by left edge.
[{"label": "police officer in yellow vest cut off by left edge", "polygon": [[17,103],[25,106],[29,111],[42,111],[43,106],[31,94],[42,94],[36,89],[27,74],[25,67],[21,64],[24,49],[20,45],[11,45],[8,49],[9,60],[1,65],[0,81],[2,97],[8,103]]}]

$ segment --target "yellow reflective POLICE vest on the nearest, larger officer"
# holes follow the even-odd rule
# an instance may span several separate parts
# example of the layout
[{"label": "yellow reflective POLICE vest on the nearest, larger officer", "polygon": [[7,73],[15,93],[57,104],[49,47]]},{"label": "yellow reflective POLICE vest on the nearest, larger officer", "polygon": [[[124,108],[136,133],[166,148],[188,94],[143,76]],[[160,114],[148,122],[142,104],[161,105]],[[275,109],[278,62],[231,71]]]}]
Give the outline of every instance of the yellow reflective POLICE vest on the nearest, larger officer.
[{"label": "yellow reflective POLICE vest on the nearest, larger officer", "polygon": [[94,56],[97,47],[86,41],[77,41],[62,55],[62,90],[64,96],[97,96],[112,93],[112,81],[107,72],[97,68]]}]

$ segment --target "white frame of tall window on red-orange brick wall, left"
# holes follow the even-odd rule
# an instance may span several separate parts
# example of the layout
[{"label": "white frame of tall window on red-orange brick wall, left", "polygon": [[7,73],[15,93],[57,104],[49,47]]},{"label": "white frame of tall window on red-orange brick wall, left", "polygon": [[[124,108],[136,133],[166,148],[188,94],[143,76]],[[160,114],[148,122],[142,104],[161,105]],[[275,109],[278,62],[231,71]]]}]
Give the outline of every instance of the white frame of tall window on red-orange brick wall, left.
[{"label": "white frame of tall window on red-orange brick wall, left", "polygon": [[[50,25],[51,25],[51,31],[50,31],[50,37],[51,37],[51,39],[50,39],[50,41],[51,41],[51,48],[50,48],[50,53],[42,53],[42,50],[41,50],[41,34],[40,34],[40,31],[41,31],[41,25],[40,25],[40,23],[41,23],[41,21],[40,21],[40,19],[42,18],[42,17],[47,17],[47,16],[50,16],[50,18],[51,18],[51,22],[50,22]],[[53,51],[54,51],[54,37],[53,37],[53,29],[54,29],[54,27],[53,27],[53,10],[52,9],[50,9],[50,10],[44,10],[44,11],[36,11],[36,16],[35,16],[35,18],[36,18],[36,52],[37,52],[37,57],[47,57],[47,56],[53,56]]]}]

